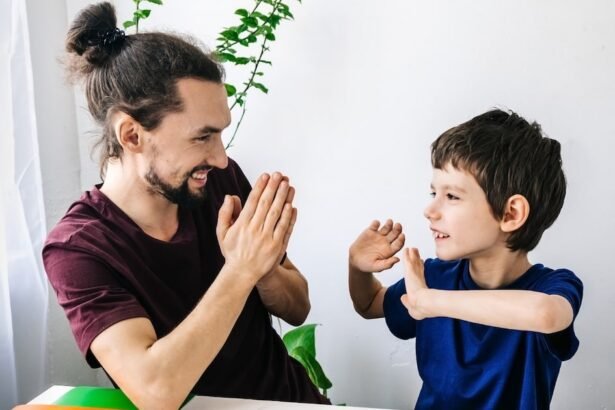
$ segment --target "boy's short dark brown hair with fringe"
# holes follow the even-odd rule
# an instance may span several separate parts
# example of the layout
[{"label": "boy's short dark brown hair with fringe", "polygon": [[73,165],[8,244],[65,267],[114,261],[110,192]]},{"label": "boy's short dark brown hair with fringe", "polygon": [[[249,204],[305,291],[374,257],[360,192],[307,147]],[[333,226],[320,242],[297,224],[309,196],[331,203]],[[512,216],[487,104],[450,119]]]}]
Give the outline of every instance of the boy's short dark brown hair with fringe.
[{"label": "boy's short dark brown hair with fringe", "polygon": [[527,199],[528,219],[507,241],[513,251],[534,249],[564,204],[559,142],[512,111],[492,110],[446,131],[431,146],[431,163],[436,169],[450,164],[472,174],[496,219],[504,216],[511,196]]}]

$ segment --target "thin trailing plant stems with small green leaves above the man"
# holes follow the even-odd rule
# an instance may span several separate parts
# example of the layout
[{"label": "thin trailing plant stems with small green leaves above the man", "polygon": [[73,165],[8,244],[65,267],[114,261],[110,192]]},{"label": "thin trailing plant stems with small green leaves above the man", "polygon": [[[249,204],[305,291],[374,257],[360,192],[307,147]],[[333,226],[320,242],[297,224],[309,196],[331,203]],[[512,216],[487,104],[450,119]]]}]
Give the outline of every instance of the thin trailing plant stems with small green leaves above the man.
[{"label": "thin trailing plant stems with small green leaves above the man", "polygon": [[[124,22],[124,28],[134,27],[139,32],[139,22],[150,16],[150,9],[142,9],[142,3],[162,5],[162,0],[132,0],[135,11],[131,20]],[[297,0],[301,3],[301,0]],[[268,44],[276,40],[275,31],[284,20],[293,20],[290,7],[283,0],[254,0],[251,10],[240,8],[235,10],[239,23],[225,27],[217,38],[215,55],[221,63],[242,66],[248,72],[247,79],[237,87],[226,83],[226,93],[233,98],[231,111],[235,108],[241,110],[235,130],[226,145],[230,148],[237,136],[246,113],[246,100],[250,90],[256,88],[267,94],[269,89],[263,83],[263,66],[271,65],[265,54],[269,51]]]}]

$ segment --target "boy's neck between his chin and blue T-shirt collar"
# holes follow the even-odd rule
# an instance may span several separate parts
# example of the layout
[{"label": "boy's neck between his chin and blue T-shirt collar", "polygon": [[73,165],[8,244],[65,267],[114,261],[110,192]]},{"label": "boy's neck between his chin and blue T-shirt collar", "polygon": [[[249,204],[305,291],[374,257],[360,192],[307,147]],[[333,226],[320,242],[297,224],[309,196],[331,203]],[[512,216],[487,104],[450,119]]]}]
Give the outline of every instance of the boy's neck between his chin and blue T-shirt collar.
[{"label": "boy's neck between his chin and blue T-shirt collar", "polygon": [[483,289],[498,289],[513,283],[532,266],[526,252],[502,252],[470,258],[470,276]]}]

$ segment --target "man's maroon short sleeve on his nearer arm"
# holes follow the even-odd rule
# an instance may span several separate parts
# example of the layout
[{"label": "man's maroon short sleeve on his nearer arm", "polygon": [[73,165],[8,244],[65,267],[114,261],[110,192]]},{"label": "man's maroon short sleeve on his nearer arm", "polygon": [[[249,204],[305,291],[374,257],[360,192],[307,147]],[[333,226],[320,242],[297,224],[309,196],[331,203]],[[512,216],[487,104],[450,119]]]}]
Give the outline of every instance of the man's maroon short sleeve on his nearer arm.
[{"label": "man's maroon short sleeve on his nearer arm", "polygon": [[112,269],[96,257],[47,246],[43,260],[79,350],[91,367],[100,367],[90,352],[90,344],[96,336],[122,320],[149,316]]}]

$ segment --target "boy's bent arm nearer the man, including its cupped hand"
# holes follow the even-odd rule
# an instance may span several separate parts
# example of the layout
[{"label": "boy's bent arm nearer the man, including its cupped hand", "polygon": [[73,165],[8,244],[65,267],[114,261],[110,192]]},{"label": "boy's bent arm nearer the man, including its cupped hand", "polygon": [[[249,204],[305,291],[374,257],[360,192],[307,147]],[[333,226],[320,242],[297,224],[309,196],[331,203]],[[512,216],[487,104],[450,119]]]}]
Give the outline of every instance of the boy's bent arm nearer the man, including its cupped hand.
[{"label": "boy's bent arm nearer the man, including its cupped hand", "polygon": [[373,221],[350,246],[348,288],[355,310],[364,318],[384,317],[386,287],[372,272],[381,272],[399,262],[393,255],[404,241],[401,225],[389,219],[382,227],[379,221]]}]

